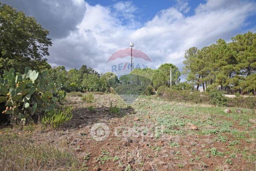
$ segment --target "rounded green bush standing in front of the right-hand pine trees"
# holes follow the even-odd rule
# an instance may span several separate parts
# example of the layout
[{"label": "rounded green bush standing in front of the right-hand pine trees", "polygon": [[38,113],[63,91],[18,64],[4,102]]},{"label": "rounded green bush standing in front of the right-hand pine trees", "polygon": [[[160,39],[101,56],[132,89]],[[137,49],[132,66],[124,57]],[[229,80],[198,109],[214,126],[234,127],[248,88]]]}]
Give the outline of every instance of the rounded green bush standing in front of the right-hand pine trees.
[{"label": "rounded green bush standing in front of the right-hand pine trees", "polygon": [[217,105],[217,106],[227,105],[227,102],[229,99],[223,95],[224,94],[223,91],[219,91],[217,89],[211,89],[208,94],[210,97],[211,104]]}]

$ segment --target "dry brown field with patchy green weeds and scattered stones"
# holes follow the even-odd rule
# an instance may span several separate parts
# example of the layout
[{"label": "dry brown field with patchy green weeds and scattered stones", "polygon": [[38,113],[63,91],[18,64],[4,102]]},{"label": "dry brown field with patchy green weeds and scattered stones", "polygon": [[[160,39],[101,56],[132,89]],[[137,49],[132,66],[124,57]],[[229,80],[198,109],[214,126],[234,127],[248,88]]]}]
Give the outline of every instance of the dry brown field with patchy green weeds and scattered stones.
[{"label": "dry brown field with patchy green weeds and scattered stones", "polygon": [[[0,170],[256,169],[255,110],[225,113],[226,108],[157,96],[140,96],[130,105],[116,94],[94,97],[86,103],[68,96],[73,118],[57,130],[0,130]],[[98,122],[109,127],[109,135],[100,136],[108,136],[104,141],[90,134]]]}]

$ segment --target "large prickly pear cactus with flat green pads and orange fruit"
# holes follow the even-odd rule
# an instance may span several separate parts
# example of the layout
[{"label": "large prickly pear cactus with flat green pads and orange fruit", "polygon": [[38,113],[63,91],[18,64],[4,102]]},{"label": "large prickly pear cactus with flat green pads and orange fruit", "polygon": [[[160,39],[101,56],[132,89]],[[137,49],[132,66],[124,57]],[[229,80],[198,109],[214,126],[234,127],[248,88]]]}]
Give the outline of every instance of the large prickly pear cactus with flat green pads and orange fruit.
[{"label": "large prickly pear cactus with flat green pads and orange fruit", "polygon": [[66,92],[59,91],[47,75],[47,71],[32,71],[28,67],[23,75],[15,76],[14,68],[4,71],[0,77],[0,104],[5,106],[2,114],[11,115],[11,123],[28,123],[65,98]]}]

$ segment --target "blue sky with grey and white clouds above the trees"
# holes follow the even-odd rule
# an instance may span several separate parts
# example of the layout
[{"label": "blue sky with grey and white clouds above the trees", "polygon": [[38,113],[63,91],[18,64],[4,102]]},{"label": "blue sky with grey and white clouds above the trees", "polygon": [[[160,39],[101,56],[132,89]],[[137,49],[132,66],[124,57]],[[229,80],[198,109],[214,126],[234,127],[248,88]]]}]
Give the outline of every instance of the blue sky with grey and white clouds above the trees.
[{"label": "blue sky with grey and white clouds above the trees", "polygon": [[48,62],[66,69],[86,64],[103,72],[107,58],[132,41],[156,67],[168,62],[181,70],[188,48],[256,32],[252,0],[1,1],[50,30]]}]

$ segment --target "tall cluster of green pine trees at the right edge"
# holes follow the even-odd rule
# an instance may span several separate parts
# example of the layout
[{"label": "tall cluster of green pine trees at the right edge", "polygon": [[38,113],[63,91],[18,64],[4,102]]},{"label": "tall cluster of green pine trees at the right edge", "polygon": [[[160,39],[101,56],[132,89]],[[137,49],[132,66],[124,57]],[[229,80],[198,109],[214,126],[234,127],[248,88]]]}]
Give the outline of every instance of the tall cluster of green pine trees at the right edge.
[{"label": "tall cluster of green pine trees at the right edge", "polygon": [[[247,32],[215,44],[185,52],[187,80],[198,90],[219,87],[228,93],[256,94],[256,33]],[[192,86],[194,88],[194,86]]]}]

